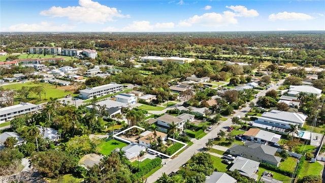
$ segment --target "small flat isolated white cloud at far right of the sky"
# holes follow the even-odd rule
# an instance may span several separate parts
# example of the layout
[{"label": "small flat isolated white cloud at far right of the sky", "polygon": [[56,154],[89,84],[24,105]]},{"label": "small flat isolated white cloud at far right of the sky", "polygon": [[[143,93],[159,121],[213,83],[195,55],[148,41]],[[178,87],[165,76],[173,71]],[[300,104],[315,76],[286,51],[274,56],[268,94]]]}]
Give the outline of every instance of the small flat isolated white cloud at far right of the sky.
[{"label": "small flat isolated white cloud at far right of the sky", "polygon": [[310,20],[313,19],[312,16],[304,13],[295,13],[295,12],[280,12],[277,14],[269,15],[269,20]]}]

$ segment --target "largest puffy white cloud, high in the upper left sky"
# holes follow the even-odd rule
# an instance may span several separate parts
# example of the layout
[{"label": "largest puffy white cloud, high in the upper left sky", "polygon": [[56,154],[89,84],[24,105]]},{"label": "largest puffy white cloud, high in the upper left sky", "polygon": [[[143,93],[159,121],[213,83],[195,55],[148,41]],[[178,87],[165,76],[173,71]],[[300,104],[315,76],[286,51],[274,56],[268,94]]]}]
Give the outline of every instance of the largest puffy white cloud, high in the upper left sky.
[{"label": "largest puffy white cloud, high in the upper left sky", "polygon": [[129,15],[122,15],[116,8],[110,8],[91,0],[79,0],[80,6],[73,7],[51,7],[41,11],[40,15],[51,17],[68,17],[70,20],[86,23],[104,23],[114,21],[114,17],[124,18]]}]

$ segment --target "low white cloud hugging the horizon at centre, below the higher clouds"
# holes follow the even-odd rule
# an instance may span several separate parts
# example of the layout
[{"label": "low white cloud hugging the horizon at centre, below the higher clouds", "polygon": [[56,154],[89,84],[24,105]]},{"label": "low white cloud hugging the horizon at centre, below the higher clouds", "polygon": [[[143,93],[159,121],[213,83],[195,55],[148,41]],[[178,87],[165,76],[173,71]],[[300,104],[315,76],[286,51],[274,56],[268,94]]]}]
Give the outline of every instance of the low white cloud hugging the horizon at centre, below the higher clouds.
[{"label": "low white cloud hugging the horizon at centre, below the higher clouds", "polygon": [[102,31],[105,32],[150,32],[150,31],[160,31],[161,29],[174,28],[173,22],[165,22],[165,23],[156,23],[150,24],[149,21],[133,21],[132,24],[123,27],[121,29],[117,29],[114,27],[107,27]]}]

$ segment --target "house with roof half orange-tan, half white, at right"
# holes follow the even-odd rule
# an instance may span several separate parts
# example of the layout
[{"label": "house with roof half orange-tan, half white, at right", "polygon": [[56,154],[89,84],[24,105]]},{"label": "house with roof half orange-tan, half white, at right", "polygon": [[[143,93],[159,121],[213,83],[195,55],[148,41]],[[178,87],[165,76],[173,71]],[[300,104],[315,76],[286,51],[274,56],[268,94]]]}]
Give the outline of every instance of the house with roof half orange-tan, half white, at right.
[{"label": "house with roof half orange-tan, half white, at right", "polygon": [[261,130],[258,128],[249,129],[247,132],[244,133],[244,136],[247,140],[263,144],[267,144],[269,142],[271,142],[272,144],[278,143],[281,138],[281,135]]}]

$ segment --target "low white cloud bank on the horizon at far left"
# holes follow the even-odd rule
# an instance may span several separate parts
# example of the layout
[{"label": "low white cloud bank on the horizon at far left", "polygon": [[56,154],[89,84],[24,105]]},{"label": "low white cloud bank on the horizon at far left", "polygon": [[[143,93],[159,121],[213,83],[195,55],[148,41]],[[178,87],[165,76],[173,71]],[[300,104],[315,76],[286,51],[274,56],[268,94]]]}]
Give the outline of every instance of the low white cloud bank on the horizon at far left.
[{"label": "low white cloud bank on the horizon at far left", "polygon": [[41,23],[19,23],[16,25],[11,25],[2,31],[12,31],[12,32],[63,32],[72,30],[74,26],[67,24],[56,25],[51,22],[43,21]]}]

